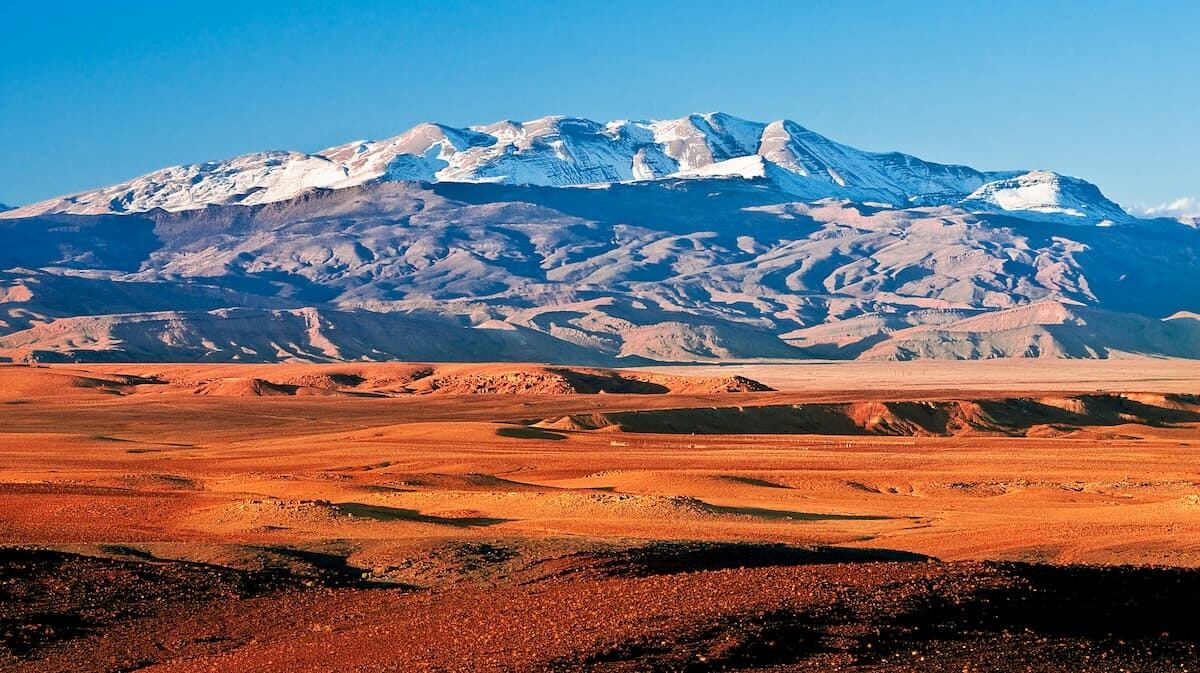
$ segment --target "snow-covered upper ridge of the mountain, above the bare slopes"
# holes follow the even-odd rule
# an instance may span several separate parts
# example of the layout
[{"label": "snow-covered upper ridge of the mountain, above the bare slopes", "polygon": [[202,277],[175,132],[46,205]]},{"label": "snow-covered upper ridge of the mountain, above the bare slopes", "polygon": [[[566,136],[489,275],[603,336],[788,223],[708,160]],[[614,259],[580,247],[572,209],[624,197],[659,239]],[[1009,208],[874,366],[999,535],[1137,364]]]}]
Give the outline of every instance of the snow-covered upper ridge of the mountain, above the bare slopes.
[{"label": "snow-covered upper ridge of the mountain, above the bare slopes", "polygon": [[610,122],[547,116],[469,128],[422,124],[386,140],[347,143],[316,154],[257,152],[164,168],[0,217],[253,205],[313,188],[376,181],[570,187],[731,176],[768,181],[802,200],[956,205],[977,212],[1037,212],[1080,223],[1129,218],[1096,186],[1076,178],[985,173],[899,152],[868,152],[793,121],[766,124],[724,113]]}]

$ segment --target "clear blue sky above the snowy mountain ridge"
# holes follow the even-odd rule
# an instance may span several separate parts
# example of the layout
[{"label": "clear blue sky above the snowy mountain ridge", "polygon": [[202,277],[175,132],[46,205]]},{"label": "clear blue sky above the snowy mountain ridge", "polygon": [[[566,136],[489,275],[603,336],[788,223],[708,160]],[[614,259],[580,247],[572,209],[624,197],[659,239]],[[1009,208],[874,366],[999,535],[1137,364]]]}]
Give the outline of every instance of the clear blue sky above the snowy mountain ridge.
[{"label": "clear blue sky above the snowy mountain ridge", "polygon": [[1058,170],[1127,206],[1200,197],[1196,2],[14,0],[0,13],[10,204],[425,120],[709,110]]}]

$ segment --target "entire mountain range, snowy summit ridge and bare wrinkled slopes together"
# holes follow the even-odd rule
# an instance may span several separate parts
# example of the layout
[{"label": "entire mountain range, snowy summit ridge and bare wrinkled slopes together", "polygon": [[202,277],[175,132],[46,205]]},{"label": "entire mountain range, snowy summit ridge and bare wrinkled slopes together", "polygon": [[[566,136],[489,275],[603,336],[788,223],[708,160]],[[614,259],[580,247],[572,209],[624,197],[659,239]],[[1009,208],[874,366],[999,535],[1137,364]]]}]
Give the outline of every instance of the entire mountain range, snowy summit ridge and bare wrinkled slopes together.
[{"label": "entire mountain range, snowy summit ridge and bare wrinkled slopes together", "polygon": [[1195,357],[1198,270],[1078,178],[791,121],[425,124],[0,214],[0,355]]}]

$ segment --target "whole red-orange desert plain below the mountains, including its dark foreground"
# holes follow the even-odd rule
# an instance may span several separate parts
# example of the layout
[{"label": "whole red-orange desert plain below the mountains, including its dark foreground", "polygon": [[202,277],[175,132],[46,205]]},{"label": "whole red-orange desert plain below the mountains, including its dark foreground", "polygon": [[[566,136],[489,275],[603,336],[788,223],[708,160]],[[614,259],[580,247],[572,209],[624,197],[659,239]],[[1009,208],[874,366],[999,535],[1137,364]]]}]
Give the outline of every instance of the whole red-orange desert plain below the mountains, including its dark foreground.
[{"label": "whole red-orange desert plain below the mountains, including its dark foreground", "polygon": [[2,366],[0,671],[1196,669],[1198,381]]}]

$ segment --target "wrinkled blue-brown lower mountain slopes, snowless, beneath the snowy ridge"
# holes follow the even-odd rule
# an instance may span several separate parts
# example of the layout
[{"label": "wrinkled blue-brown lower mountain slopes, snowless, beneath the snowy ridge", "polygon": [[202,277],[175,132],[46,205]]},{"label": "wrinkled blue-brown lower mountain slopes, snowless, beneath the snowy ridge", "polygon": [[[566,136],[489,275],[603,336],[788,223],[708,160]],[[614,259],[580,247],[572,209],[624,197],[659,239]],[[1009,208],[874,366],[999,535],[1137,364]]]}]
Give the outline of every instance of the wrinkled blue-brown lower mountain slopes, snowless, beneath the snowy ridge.
[{"label": "wrinkled blue-brown lower mountain slopes, snowless, beneath the snowy ridge", "polygon": [[[757,128],[728,128],[715,157]],[[685,140],[665,156],[697,156]],[[1003,180],[1015,181],[972,200],[1015,190],[1045,208],[1042,178],[1032,191]],[[812,200],[768,176],[707,174],[372,181],[256,205],[7,218],[0,356],[1200,356],[1200,230],[1060,215]]]}]

